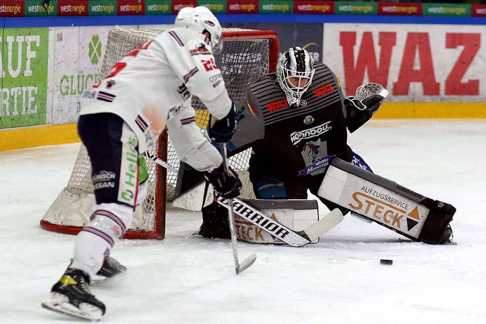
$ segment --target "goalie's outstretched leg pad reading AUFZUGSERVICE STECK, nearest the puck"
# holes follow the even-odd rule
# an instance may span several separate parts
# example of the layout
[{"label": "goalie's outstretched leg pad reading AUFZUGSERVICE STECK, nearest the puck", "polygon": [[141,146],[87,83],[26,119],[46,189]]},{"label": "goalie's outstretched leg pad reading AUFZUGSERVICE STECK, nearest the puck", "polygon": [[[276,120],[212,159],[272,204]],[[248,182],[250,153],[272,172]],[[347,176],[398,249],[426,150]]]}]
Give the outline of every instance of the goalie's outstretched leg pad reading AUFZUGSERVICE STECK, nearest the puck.
[{"label": "goalie's outstretched leg pad reading AUFZUGSERVICE STECK, nearest the puck", "polygon": [[456,208],[338,158],[318,195],[415,241],[440,244]]}]

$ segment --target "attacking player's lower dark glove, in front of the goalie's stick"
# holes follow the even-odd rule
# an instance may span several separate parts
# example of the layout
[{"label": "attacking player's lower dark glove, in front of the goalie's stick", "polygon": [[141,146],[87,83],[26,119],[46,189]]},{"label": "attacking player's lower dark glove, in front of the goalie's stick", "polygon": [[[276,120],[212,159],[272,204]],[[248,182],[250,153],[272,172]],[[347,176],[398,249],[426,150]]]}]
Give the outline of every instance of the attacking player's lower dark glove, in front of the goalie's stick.
[{"label": "attacking player's lower dark glove, in front of the goalie's stick", "polygon": [[223,164],[212,172],[203,172],[204,177],[213,185],[214,190],[226,199],[239,196],[242,187],[236,172],[231,168],[229,168],[229,172],[230,174],[226,173]]}]

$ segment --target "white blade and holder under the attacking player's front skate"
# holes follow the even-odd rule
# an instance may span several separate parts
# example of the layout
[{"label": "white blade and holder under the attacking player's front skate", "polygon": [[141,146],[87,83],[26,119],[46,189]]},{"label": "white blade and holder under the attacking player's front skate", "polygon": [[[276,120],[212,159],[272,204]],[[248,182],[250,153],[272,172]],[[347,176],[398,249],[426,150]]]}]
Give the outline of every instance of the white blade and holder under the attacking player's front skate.
[{"label": "white blade and holder under the attacking player's front skate", "polygon": [[43,301],[41,306],[56,313],[89,321],[99,321],[103,315],[101,309],[88,303],[80,303],[79,308],[77,308],[69,303],[67,296],[59,293],[51,293],[51,297]]}]

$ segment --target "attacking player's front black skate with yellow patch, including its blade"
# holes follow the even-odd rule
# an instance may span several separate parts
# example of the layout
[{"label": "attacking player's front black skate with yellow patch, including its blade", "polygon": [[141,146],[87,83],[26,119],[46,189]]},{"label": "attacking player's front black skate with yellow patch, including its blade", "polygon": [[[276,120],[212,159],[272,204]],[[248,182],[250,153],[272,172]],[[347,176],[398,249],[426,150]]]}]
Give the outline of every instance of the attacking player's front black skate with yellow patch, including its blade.
[{"label": "attacking player's front black skate with yellow patch, including its blade", "polygon": [[100,320],[105,305],[90,293],[90,276],[83,270],[68,268],[51,289],[51,297],[42,307],[74,317]]}]

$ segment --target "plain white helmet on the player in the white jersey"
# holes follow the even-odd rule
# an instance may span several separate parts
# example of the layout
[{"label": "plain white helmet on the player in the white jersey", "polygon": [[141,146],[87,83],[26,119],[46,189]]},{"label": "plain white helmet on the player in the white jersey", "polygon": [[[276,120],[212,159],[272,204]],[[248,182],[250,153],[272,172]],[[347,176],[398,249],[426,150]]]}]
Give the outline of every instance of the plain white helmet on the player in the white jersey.
[{"label": "plain white helmet on the player in the white jersey", "polygon": [[175,25],[189,28],[201,34],[206,31],[209,32],[213,50],[223,50],[223,30],[218,19],[208,8],[203,6],[182,8],[177,14]]}]

